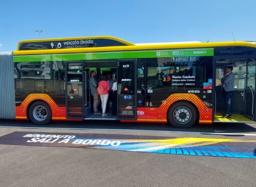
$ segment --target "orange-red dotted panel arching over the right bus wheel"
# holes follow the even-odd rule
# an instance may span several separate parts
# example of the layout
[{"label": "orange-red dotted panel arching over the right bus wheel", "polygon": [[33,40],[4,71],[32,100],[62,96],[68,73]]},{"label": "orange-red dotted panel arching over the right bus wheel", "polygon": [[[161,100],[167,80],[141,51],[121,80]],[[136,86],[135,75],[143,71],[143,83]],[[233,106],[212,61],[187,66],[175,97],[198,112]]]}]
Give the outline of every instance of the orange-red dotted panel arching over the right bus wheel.
[{"label": "orange-red dotted panel arching over the right bus wheel", "polygon": [[[145,111],[145,120],[154,122],[167,122],[167,111],[169,107],[176,101],[186,100],[195,104],[199,111],[199,122],[200,123],[211,123],[212,122],[212,108],[208,108],[205,103],[193,93],[174,93],[170,95],[159,107],[140,107],[138,110]],[[138,118],[143,116],[138,115]]]}]

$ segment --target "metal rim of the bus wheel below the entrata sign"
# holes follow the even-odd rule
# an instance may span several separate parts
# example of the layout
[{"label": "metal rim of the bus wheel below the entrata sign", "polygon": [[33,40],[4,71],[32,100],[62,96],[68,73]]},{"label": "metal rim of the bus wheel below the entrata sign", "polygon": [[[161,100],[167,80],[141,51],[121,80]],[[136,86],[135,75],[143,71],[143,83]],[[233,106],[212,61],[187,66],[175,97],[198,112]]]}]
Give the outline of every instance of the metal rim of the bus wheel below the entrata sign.
[{"label": "metal rim of the bus wheel below the entrata sign", "polygon": [[191,111],[189,108],[185,106],[181,106],[176,108],[176,110],[173,112],[173,117],[178,123],[187,123],[191,120]]}]

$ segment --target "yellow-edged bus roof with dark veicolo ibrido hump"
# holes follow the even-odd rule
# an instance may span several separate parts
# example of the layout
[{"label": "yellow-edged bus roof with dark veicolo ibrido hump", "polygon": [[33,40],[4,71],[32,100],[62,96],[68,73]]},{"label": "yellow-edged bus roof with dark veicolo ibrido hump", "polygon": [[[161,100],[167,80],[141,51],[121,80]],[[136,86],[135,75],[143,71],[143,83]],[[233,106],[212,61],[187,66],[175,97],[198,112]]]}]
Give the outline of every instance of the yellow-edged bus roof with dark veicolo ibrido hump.
[{"label": "yellow-edged bus roof with dark veicolo ibrido hump", "polygon": [[222,41],[222,42],[161,42],[161,43],[131,43],[112,36],[68,37],[53,39],[23,40],[18,44],[14,55],[53,54],[97,51],[150,50],[171,48],[198,48],[218,46],[250,46],[256,47],[254,41]]}]

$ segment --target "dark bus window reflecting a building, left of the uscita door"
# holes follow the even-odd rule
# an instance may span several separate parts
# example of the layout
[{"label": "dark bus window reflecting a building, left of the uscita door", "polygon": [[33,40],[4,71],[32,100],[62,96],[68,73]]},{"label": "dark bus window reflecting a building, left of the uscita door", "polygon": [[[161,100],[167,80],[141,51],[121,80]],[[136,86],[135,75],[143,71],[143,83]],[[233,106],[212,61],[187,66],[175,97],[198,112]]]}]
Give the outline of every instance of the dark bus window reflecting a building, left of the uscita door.
[{"label": "dark bus window reflecting a building, left of the uscita door", "polygon": [[62,61],[15,63],[16,92],[64,92],[65,69]]}]

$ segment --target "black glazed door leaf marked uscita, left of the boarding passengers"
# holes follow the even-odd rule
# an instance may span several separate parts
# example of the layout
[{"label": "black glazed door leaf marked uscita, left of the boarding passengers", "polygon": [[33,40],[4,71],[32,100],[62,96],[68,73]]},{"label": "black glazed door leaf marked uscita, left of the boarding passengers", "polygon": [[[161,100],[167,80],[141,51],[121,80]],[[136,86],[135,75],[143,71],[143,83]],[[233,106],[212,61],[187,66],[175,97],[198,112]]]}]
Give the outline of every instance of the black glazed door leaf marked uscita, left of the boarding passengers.
[{"label": "black glazed door leaf marked uscita, left of the boarding passengers", "polygon": [[83,118],[83,65],[66,62],[67,118]]}]

